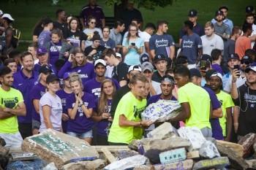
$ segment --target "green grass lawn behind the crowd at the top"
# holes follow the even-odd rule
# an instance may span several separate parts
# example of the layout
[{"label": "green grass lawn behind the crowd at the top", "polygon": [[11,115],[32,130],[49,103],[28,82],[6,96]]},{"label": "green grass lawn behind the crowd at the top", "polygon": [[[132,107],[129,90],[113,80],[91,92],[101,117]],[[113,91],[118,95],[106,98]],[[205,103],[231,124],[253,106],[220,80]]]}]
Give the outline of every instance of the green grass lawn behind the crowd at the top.
[{"label": "green grass lawn behind the crowd at the top", "polygon": [[[13,23],[15,28],[19,28],[21,31],[21,40],[32,40],[33,28],[43,15],[48,15],[52,20],[56,20],[55,12],[57,9],[64,9],[66,14],[79,15],[80,9],[88,4],[88,1],[72,0],[64,1],[60,0],[56,6],[51,6],[50,0],[29,0],[29,4],[18,3],[8,4],[1,3],[1,10],[4,13],[9,13],[12,18],[15,19]],[[97,4],[103,7],[105,16],[113,16],[113,7],[108,7],[105,1],[97,1]],[[215,12],[219,7],[225,4],[229,7],[227,18],[233,20],[234,26],[242,26],[244,18],[246,16],[245,7],[247,5],[253,5],[256,8],[255,0],[174,0],[172,6],[165,8],[157,7],[155,11],[140,8],[140,12],[143,15],[144,26],[148,22],[157,23],[157,20],[168,21],[168,34],[173,36],[173,39],[178,43],[178,36],[181,26],[184,20],[187,20],[189,9],[197,10],[197,23],[204,25],[207,21],[214,18]],[[135,4],[136,7],[136,4]],[[22,45],[24,44],[24,45]],[[24,47],[28,43],[21,42],[18,49],[26,50]]]}]

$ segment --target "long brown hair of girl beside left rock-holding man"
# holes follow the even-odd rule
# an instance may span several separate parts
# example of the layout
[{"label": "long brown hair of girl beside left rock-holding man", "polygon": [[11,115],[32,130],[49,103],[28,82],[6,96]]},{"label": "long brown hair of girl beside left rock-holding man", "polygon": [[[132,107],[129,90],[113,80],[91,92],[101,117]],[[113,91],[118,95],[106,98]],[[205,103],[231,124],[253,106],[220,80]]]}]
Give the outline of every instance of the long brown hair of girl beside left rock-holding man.
[{"label": "long brown hair of girl beside left rock-holding man", "polygon": [[113,85],[114,90],[112,96],[116,91],[116,86],[112,80],[105,79],[102,81],[102,85],[100,85],[100,97],[98,98],[98,115],[102,115],[102,113],[105,112],[105,108],[108,108],[108,96],[103,91],[103,85],[105,84],[105,82],[111,82],[111,85]]}]

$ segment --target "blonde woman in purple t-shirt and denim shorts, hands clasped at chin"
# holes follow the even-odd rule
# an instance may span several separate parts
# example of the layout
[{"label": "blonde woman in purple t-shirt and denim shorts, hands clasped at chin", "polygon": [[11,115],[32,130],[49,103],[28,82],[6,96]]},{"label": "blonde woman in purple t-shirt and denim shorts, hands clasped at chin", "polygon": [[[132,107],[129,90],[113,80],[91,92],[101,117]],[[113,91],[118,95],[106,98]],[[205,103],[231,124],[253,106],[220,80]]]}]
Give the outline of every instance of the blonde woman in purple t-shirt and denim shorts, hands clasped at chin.
[{"label": "blonde woman in purple t-shirt and denim shorts, hands clasped at chin", "polygon": [[83,92],[83,83],[78,73],[69,75],[69,84],[73,93],[66,99],[66,109],[69,113],[67,134],[79,137],[91,144],[91,114],[95,107],[94,96]]}]

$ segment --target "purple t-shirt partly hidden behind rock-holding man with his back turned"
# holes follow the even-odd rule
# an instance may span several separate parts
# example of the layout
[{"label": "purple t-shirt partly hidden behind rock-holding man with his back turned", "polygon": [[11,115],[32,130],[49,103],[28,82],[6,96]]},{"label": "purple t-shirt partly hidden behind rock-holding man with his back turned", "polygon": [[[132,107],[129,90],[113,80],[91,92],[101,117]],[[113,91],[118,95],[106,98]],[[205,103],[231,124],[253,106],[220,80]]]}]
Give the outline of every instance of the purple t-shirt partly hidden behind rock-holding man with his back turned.
[{"label": "purple t-shirt partly hidden behind rock-holding man with his back turned", "polygon": [[[205,89],[210,96],[212,110],[221,108],[219,104],[219,100],[216,94],[214,93],[214,91],[206,87],[202,87],[202,88]],[[210,123],[211,123],[212,137],[218,140],[222,140],[223,134],[222,134],[222,127],[219,124],[219,118],[211,118]]]}]

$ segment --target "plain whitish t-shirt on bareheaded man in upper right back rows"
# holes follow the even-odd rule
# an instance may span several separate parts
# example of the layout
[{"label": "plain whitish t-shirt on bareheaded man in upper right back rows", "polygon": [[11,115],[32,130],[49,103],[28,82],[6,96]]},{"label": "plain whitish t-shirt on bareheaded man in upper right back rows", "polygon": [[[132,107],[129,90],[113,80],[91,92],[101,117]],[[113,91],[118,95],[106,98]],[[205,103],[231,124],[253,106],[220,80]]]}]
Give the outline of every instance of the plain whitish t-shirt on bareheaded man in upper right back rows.
[{"label": "plain whitish t-shirt on bareheaded man in upper right back rows", "polygon": [[219,49],[224,50],[224,43],[220,36],[214,34],[214,36],[209,39],[206,35],[201,36],[203,44],[203,54],[211,55],[211,50]]}]

